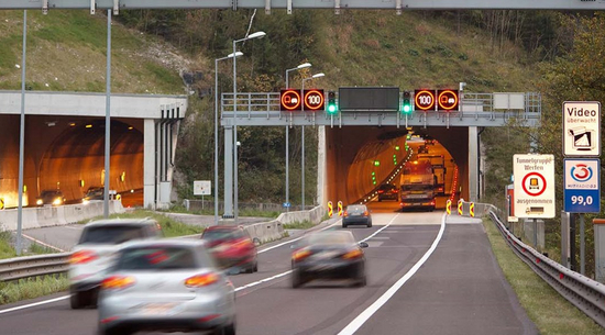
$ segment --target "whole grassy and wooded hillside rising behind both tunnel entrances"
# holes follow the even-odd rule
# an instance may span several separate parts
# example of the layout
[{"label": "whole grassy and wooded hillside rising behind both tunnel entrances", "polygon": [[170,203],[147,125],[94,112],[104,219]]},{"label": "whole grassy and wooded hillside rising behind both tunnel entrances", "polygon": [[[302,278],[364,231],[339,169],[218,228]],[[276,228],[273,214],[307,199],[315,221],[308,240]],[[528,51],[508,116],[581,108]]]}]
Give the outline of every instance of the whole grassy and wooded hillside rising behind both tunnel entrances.
[{"label": "whole grassy and wooded hillside rising behind both tunnel entrances", "polygon": [[[21,11],[0,12],[0,89],[20,89]],[[127,24],[127,25],[124,25]],[[29,12],[26,85],[33,90],[105,91],[106,25],[102,14],[87,11]],[[184,93],[183,70],[198,70],[189,118],[177,150],[180,196],[189,197],[193,180],[213,176],[213,59],[232,52],[232,38],[265,31],[262,40],[239,45],[238,88],[277,91],[284,74],[302,62],[311,68],[290,72],[290,86],[309,81],[324,89],[341,86],[457,88],[472,92],[535,91],[538,77],[527,54],[472,24],[426,12],[391,11],[123,11],[112,25],[112,92]],[[151,34],[144,34],[141,31]],[[178,45],[177,48],[175,45]],[[219,68],[220,90],[231,90],[230,64]],[[209,96],[210,94],[210,96]],[[201,97],[198,99],[197,97]],[[208,97],[208,98],[206,98]],[[315,182],[315,130],[307,127],[307,176]],[[280,202],[284,194],[284,129],[245,129],[242,147],[242,199]],[[222,135],[219,135],[222,141]],[[290,131],[290,166],[300,165],[300,133]],[[222,144],[219,145],[221,147]],[[222,160],[222,149],[219,153]],[[220,163],[222,167],[222,161]],[[222,170],[222,168],[221,168]],[[290,168],[293,203],[300,197],[300,171]],[[308,199],[315,188],[307,187]]]}]

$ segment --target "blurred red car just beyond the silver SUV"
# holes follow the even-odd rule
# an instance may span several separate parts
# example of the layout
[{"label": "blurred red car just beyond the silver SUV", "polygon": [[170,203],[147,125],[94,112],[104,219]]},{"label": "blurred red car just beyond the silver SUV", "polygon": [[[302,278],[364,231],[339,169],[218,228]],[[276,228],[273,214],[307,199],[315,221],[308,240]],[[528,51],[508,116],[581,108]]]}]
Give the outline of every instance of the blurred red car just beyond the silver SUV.
[{"label": "blurred red car just beyond the silver SUV", "polygon": [[215,261],[222,269],[242,269],[249,273],[258,271],[256,245],[241,226],[215,225],[201,235]]}]

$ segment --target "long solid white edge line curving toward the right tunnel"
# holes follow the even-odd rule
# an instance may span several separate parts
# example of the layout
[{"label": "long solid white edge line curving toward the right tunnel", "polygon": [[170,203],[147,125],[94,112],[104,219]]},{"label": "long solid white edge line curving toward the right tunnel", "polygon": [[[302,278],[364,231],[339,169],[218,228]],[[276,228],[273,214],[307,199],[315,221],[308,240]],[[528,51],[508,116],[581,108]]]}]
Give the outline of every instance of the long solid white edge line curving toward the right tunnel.
[{"label": "long solid white edge line curving toward the right tunnel", "polygon": [[427,250],[425,256],[418,260],[417,264],[407,271],[404,277],[402,277],[397,282],[395,282],[378,300],[376,300],[373,304],[371,304],[365,311],[363,311],[358,317],[355,317],[353,321],[351,321],[350,324],[348,324],[338,335],[351,335],[354,334],[374,313],[376,313],[393,295],[408,281],[417,271],[418,269],[429,259],[430,255],[435,249],[437,248],[437,245],[441,241],[441,236],[443,236],[443,231],[446,231],[446,214],[441,217],[441,228],[439,230],[439,234],[437,234],[437,237],[432,242],[431,247]]}]

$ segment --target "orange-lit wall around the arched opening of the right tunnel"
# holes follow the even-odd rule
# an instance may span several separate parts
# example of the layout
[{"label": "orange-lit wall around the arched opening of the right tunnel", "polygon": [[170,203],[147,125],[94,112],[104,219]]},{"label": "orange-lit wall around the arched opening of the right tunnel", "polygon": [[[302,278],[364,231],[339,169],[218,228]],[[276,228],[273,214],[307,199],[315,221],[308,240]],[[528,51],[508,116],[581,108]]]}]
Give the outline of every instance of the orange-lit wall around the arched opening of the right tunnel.
[{"label": "orange-lit wall around the arched opening of the right tunnel", "polygon": [[[469,197],[469,130],[466,127],[415,129],[416,134],[439,141],[459,167],[462,197]],[[398,143],[405,149],[405,127],[346,126],[326,127],[327,199],[351,203],[374,188],[371,171],[376,170],[381,182],[393,170],[393,148]],[[399,138],[402,137],[402,138]],[[370,161],[378,158],[380,167]],[[383,163],[384,160],[384,163]],[[381,179],[382,178],[382,179]]]}]

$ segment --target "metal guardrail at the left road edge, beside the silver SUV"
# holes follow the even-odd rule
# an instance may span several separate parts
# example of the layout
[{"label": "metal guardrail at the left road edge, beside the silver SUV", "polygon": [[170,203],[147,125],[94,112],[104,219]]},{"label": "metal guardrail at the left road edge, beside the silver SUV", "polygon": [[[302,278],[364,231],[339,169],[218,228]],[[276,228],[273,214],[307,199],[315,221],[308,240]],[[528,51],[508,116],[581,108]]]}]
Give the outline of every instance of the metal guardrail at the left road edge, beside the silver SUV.
[{"label": "metal guardrail at the left road edge, beside the silver SUV", "polygon": [[0,260],[0,281],[63,273],[67,271],[67,258],[72,253],[16,257]]}]

